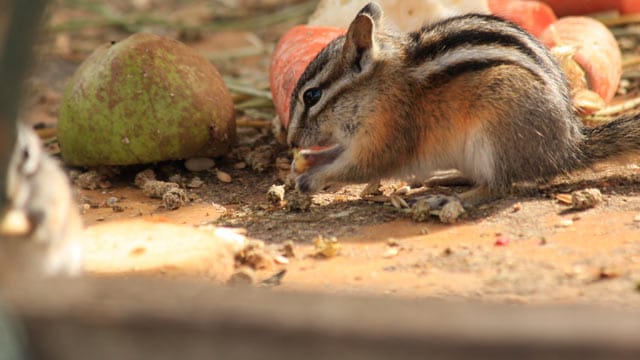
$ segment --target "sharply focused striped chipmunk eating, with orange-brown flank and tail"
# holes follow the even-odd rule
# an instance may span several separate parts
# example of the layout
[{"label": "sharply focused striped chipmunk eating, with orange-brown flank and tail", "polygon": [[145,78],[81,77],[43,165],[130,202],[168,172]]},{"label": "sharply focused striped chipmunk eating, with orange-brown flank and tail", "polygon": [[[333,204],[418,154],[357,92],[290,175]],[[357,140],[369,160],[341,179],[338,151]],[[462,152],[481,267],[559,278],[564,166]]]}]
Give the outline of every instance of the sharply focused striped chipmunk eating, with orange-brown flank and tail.
[{"label": "sharply focused striped chipmunk eating, with orange-brown flank and tail", "polygon": [[398,33],[369,3],[299,79],[287,141],[303,149],[302,192],[457,169],[474,205],[515,181],[637,154],[638,120],[584,127],[553,56],[509,21],[467,14]]}]

